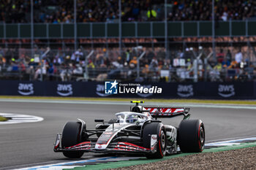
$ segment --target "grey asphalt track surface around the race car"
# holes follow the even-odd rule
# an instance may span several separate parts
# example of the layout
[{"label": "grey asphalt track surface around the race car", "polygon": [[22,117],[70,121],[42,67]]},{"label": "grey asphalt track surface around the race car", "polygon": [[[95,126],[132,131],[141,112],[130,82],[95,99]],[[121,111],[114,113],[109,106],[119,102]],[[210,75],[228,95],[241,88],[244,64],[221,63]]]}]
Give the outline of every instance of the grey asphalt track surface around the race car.
[{"label": "grey asphalt track surface around the race car", "polygon": [[[127,105],[109,104],[50,104],[0,101],[0,112],[43,117],[39,123],[0,125],[0,169],[16,169],[44,163],[70,161],[61,153],[53,152],[56,134],[64,123],[81,118],[88,128],[94,119],[110,120],[114,113],[129,111]],[[206,128],[206,142],[256,136],[255,109],[191,108],[192,119],[201,119]],[[162,119],[178,125],[178,120]],[[85,153],[83,158],[94,153]]]}]

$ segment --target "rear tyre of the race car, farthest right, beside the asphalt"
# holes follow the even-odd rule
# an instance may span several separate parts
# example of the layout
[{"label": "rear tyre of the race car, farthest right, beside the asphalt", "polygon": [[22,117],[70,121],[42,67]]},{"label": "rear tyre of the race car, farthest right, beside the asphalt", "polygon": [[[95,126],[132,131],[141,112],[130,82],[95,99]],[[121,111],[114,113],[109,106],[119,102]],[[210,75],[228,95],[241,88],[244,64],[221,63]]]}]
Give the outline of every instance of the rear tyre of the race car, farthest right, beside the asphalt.
[{"label": "rear tyre of the race car, farthest right, beside the asphalt", "polygon": [[178,145],[181,152],[202,152],[205,129],[202,120],[182,120],[178,128]]}]

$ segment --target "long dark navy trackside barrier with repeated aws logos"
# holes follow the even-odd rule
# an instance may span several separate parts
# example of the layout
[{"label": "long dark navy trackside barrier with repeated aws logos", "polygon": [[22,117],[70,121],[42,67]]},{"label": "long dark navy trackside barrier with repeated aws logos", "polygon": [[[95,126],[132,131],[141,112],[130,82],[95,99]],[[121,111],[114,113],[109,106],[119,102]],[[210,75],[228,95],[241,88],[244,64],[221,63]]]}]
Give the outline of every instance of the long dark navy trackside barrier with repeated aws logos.
[{"label": "long dark navy trackside barrier with repeated aws logos", "polygon": [[[124,84],[125,82],[121,82]],[[129,82],[130,83],[130,82]],[[256,82],[143,82],[162,88],[162,93],[105,94],[105,82],[32,82],[0,80],[2,96],[77,96],[117,98],[215,98],[256,99]],[[132,86],[127,86],[131,88]],[[120,88],[123,88],[123,86]],[[135,87],[136,88],[136,87]]]}]

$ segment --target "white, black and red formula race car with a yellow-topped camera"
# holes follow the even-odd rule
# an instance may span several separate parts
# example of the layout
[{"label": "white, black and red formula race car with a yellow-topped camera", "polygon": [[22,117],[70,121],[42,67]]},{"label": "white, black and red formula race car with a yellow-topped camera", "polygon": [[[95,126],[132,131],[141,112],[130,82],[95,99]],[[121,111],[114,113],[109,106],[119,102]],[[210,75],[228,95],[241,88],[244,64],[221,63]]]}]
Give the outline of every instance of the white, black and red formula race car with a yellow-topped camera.
[{"label": "white, black and red formula race car with a yellow-topped camera", "polygon": [[[87,129],[78,119],[67,122],[62,134],[57,134],[54,152],[63,152],[68,158],[80,158],[84,152],[140,153],[146,158],[163,158],[181,152],[202,152],[205,144],[205,129],[201,120],[188,120],[189,108],[142,107],[143,101],[131,101],[136,106],[130,112],[116,113],[116,119]],[[159,117],[183,115],[178,128],[163,125]]]}]

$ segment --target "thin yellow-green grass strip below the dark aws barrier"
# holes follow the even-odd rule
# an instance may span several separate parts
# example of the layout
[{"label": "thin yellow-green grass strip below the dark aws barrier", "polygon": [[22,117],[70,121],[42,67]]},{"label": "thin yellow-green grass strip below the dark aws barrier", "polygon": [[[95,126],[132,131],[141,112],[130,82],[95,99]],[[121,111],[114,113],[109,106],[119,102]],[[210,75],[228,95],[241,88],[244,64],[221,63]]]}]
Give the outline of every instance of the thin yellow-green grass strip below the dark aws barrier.
[{"label": "thin yellow-green grass strip below the dark aws barrier", "polygon": [[78,100],[78,101],[132,101],[165,103],[198,103],[198,104],[250,104],[256,105],[253,100],[204,100],[204,99],[161,99],[161,98],[83,98],[83,97],[42,97],[42,96],[0,96],[8,99],[45,99],[45,100]]}]

